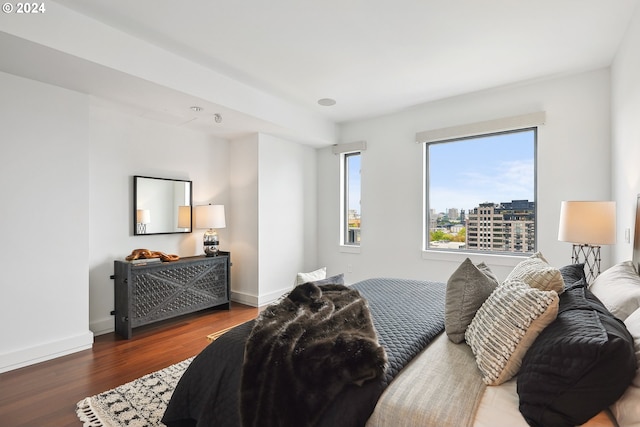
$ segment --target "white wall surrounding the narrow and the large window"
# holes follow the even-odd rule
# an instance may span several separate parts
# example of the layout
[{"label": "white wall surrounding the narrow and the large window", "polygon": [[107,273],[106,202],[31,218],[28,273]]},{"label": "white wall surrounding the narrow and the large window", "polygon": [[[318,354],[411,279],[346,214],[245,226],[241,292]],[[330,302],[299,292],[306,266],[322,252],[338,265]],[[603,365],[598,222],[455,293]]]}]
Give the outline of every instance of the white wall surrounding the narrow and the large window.
[{"label": "white wall surrounding the narrow and the large window", "polygon": [[[362,243],[360,253],[339,251],[339,157],[323,149],[318,156],[319,264],[346,273],[348,282],[375,276],[446,281],[465,255],[421,251],[423,155],[415,133],[537,111],[547,117],[538,133],[538,248],[553,264],[570,263],[570,244],[557,241],[560,202],[611,197],[609,100],[609,71],[603,69],[343,125],[341,142],[367,141],[362,155]],[[501,277],[518,261],[471,259],[486,261]],[[610,262],[604,248],[603,266]]]}]

